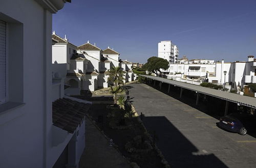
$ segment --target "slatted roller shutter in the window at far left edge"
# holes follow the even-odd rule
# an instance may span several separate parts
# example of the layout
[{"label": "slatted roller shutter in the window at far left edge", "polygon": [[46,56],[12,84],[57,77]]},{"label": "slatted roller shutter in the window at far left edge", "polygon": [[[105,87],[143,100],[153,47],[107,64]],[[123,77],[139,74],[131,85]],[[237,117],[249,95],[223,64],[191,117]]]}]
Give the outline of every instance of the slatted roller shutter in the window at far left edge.
[{"label": "slatted roller shutter in the window at far left edge", "polygon": [[6,22],[0,20],[0,104],[6,101]]}]

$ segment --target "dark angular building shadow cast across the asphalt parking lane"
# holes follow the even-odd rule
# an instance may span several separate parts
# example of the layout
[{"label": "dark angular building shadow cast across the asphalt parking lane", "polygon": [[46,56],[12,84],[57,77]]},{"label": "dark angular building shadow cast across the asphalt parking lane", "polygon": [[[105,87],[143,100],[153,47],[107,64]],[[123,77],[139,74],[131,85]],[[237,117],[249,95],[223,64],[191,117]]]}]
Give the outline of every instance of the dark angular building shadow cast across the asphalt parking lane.
[{"label": "dark angular building shadow cast across the asphalt parking lane", "polygon": [[199,151],[165,117],[142,117],[148,131],[155,132],[158,148],[172,167],[227,167],[214,154]]}]

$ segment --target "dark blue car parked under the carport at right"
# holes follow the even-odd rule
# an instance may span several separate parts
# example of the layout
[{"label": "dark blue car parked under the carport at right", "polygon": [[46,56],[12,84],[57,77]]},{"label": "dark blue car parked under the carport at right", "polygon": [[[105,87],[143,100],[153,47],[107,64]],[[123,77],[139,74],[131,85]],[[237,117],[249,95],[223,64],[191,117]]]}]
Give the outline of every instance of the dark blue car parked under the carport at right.
[{"label": "dark blue car parked under the carport at right", "polygon": [[247,132],[256,130],[256,117],[255,115],[234,113],[222,117],[218,125],[231,132],[238,132],[241,135],[245,135]]}]

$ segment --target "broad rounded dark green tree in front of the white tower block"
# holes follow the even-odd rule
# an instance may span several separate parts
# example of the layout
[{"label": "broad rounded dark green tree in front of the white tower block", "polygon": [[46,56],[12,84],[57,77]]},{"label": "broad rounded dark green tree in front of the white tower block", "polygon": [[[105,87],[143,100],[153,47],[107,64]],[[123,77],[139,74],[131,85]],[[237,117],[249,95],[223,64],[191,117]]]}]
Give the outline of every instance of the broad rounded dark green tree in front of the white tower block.
[{"label": "broad rounded dark green tree in front of the white tower block", "polygon": [[151,57],[147,59],[147,63],[143,65],[142,68],[149,72],[155,73],[156,75],[158,75],[158,72],[160,72],[160,75],[162,76],[160,69],[167,70],[169,68],[169,62],[159,57]]}]

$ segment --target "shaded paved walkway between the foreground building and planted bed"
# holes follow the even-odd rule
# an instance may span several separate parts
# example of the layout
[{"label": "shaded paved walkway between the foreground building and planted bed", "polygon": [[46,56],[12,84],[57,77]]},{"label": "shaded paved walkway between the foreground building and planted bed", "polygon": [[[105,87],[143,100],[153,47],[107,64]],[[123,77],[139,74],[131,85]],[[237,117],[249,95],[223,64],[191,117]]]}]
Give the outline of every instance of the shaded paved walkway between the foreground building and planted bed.
[{"label": "shaded paved walkway between the foreground building and planted bed", "polygon": [[80,168],[130,168],[130,164],[105,136],[86,118],[86,149],[79,162]]}]

